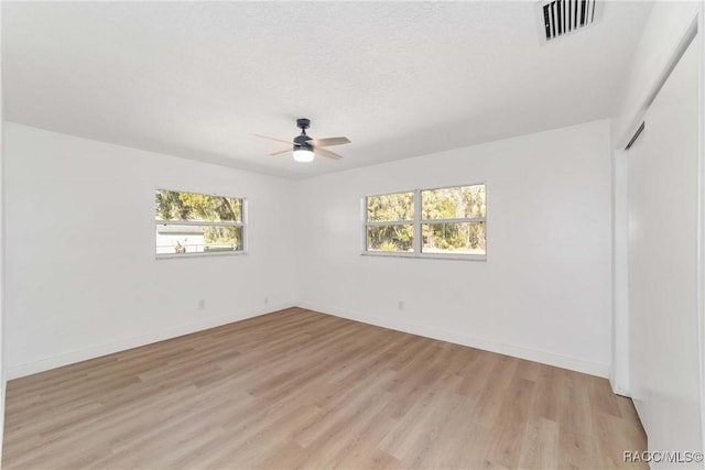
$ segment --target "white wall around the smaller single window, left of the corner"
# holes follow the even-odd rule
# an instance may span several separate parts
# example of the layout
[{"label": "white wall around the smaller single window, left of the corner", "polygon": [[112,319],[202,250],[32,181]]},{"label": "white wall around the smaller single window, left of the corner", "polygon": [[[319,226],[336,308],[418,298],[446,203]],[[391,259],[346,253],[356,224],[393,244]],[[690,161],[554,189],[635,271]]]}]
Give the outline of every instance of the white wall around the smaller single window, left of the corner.
[{"label": "white wall around the smaller single window, left of the corner", "polygon": [[[13,123],[4,144],[10,379],[293,304],[292,182]],[[247,197],[249,254],[155,260],[155,188]]]}]

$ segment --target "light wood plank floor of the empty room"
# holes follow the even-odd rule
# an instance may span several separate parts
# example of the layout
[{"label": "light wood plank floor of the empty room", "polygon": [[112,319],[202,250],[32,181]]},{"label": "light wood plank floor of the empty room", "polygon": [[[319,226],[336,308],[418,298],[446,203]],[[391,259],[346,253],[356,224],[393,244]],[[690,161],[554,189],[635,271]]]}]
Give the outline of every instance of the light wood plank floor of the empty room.
[{"label": "light wood plank floor of the empty room", "polygon": [[644,447],[604,379],[291,308],[11,381],[2,468],[595,469]]}]

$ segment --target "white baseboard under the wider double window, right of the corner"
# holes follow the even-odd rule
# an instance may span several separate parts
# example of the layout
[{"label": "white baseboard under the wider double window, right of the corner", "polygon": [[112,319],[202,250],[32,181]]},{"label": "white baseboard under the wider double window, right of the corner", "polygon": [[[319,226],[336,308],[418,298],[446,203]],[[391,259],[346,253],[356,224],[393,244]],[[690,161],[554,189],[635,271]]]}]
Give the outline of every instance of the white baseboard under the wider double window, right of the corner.
[{"label": "white baseboard under the wider double window, right of the corner", "polygon": [[522,346],[507,345],[495,340],[476,338],[457,331],[448,331],[440,328],[429,327],[425,325],[401,323],[379,317],[370,317],[367,315],[344,311],[338,308],[324,307],[306,302],[299,302],[297,306],[307,308],[310,310],[334,315],[336,317],[361,321],[364,324],[376,325],[379,327],[409,332],[412,335],[440,339],[442,341],[448,341],[456,345],[469,346],[471,348],[482,349],[485,351],[497,352],[500,354],[511,356],[513,358],[540,362],[542,364],[555,365],[556,368],[583,372],[589,375],[597,375],[605,379],[609,378],[609,364],[600,364],[597,362],[585,361],[583,359],[572,358],[568,356],[541,351],[533,348],[525,348]]}]

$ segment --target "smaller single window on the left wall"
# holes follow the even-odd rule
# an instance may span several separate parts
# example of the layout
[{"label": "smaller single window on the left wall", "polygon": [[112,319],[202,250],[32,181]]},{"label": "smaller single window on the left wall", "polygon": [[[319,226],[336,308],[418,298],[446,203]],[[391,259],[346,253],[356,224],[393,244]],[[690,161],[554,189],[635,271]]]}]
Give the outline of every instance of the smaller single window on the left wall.
[{"label": "smaller single window on the left wall", "polygon": [[156,255],[245,251],[245,199],[158,189]]}]

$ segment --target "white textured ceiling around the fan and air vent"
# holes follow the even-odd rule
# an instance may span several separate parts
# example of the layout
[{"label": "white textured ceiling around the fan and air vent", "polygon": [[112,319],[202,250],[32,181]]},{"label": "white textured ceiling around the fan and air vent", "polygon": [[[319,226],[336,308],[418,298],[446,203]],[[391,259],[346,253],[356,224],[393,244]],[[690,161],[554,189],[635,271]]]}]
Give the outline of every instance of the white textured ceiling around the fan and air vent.
[{"label": "white textured ceiling around the fan and air vent", "polygon": [[[288,177],[610,117],[650,2],[2,2],[6,120]],[[312,120],[339,162],[269,157]]]}]

